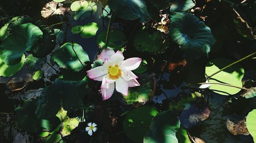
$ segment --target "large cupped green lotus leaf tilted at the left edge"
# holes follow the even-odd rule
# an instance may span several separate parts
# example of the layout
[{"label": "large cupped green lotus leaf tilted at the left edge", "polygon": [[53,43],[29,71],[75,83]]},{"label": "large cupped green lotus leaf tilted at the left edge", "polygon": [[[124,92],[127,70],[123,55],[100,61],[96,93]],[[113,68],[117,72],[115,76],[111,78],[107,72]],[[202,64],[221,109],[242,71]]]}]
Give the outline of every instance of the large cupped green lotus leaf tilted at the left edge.
[{"label": "large cupped green lotus leaf tilted at the left edge", "polygon": [[0,58],[7,65],[15,65],[20,62],[23,54],[31,50],[41,38],[42,32],[37,26],[31,23],[19,25],[1,43]]}]

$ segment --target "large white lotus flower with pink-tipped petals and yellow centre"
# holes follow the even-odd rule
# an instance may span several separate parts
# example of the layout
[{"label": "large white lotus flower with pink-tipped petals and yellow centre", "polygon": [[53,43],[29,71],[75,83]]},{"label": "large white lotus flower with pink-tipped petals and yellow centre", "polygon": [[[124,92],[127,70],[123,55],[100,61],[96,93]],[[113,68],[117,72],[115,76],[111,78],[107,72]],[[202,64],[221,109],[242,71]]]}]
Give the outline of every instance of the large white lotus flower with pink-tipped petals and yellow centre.
[{"label": "large white lotus flower with pink-tipped petals and yellow centre", "polygon": [[[124,60],[121,51],[114,52],[113,49],[104,49],[100,58],[103,65],[87,71],[90,78],[101,83],[102,99],[109,99],[116,87],[116,91],[128,95],[129,87],[139,86],[138,78],[132,70],[139,67],[141,58],[130,58]],[[123,61],[124,60],[124,61]]]}]

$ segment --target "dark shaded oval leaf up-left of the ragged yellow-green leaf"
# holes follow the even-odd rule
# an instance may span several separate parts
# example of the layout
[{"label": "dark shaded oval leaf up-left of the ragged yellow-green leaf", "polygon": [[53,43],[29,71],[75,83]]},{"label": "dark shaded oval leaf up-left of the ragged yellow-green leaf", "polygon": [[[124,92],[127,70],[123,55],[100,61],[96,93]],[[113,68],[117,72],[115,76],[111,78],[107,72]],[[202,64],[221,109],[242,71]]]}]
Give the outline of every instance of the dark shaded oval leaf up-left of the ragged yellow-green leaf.
[{"label": "dark shaded oval leaf up-left of the ragged yellow-green leaf", "polygon": [[50,87],[46,87],[36,103],[35,115],[39,119],[52,119],[60,109],[60,97]]}]

